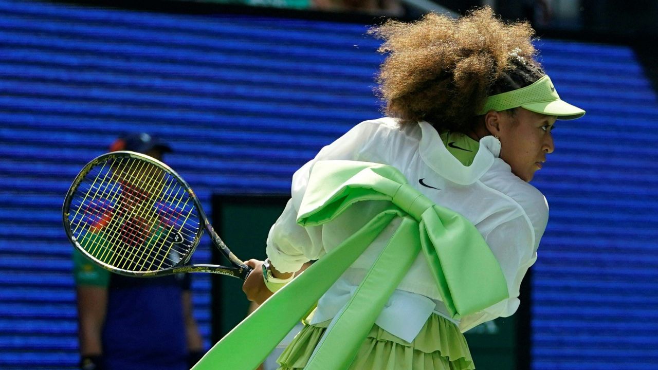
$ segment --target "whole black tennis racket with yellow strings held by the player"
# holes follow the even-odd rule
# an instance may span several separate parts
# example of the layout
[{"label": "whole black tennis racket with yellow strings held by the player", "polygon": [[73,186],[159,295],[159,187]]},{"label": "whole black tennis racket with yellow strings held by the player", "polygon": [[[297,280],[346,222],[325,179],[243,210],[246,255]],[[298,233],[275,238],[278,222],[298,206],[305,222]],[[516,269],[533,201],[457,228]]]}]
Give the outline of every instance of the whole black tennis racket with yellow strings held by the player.
[{"label": "whole black tennis racket with yellow strings held by the player", "polygon": [[[120,275],[216,273],[245,280],[251,272],[217,235],[188,183],[140,153],[113,151],[89,162],[66,194],[63,219],[75,248]],[[232,267],[189,264],[203,230]]]}]

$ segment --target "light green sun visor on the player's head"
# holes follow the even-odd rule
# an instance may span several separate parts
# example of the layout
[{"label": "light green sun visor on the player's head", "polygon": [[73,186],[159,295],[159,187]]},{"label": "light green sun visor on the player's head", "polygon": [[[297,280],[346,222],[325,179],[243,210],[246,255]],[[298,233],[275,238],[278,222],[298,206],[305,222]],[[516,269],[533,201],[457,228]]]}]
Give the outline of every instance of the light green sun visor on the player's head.
[{"label": "light green sun visor on the player's head", "polygon": [[579,119],[585,111],[560,99],[555,86],[548,76],[536,80],[532,85],[511,92],[491,95],[478,115],[488,111],[506,111],[522,107],[542,115],[557,116],[557,119]]}]

